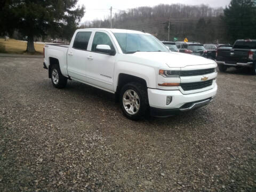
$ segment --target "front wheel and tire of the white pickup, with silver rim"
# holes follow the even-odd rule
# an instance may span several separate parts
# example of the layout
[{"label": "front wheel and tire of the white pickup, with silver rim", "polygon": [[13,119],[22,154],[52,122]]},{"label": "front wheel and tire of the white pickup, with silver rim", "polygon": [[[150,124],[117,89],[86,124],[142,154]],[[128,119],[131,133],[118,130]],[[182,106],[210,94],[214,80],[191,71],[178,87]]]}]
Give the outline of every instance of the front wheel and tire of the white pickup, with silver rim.
[{"label": "front wheel and tire of the white pickup, with silver rim", "polygon": [[131,82],[124,85],[119,101],[123,114],[129,119],[141,119],[149,111],[147,87],[141,83]]}]

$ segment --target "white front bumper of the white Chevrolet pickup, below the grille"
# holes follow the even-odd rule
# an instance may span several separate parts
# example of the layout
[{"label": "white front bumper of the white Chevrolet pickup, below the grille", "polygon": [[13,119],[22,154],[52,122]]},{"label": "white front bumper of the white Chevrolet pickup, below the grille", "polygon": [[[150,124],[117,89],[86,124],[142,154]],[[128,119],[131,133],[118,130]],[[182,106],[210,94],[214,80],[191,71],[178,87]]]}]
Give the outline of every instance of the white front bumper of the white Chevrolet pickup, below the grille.
[{"label": "white front bumper of the white Chevrolet pickup, below the grille", "polygon": [[[192,110],[207,105],[217,93],[218,86],[198,93],[182,94],[179,90],[148,89],[148,101],[152,116],[171,116],[181,111]],[[172,102],[166,105],[166,97],[172,96]]]}]

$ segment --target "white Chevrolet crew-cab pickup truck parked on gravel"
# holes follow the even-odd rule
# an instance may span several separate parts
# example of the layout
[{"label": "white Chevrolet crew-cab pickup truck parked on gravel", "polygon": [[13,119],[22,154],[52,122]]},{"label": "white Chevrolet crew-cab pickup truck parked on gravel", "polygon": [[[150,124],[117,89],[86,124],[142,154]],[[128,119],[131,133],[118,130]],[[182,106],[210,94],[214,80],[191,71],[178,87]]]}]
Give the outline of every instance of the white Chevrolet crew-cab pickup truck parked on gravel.
[{"label": "white Chevrolet crew-cab pickup truck parked on gravel", "polygon": [[70,45],[45,45],[43,64],[57,88],[72,79],[115,93],[130,119],[172,116],[217,93],[215,61],[170,52],[140,31],[78,29]]}]

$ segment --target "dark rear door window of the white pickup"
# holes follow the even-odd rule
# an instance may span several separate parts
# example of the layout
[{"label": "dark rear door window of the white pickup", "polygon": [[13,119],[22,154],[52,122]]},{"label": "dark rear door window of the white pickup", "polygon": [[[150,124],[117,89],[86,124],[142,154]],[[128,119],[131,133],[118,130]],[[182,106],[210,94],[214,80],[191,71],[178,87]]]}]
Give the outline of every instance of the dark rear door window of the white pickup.
[{"label": "dark rear door window of the white pickup", "polygon": [[75,49],[87,50],[88,42],[91,37],[91,31],[81,31],[76,34],[73,44]]}]

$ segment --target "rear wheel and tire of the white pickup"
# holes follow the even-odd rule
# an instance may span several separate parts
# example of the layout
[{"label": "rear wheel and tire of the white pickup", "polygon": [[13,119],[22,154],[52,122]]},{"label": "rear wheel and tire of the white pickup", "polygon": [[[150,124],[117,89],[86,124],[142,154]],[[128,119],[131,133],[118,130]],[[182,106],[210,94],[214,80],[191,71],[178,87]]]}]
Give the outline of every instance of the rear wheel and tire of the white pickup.
[{"label": "rear wheel and tire of the white pickup", "polygon": [[61,89],[67,85],[67,78],[61,74],[60,67],[54,64],[51,67],[51,79],[54,87]]}]

